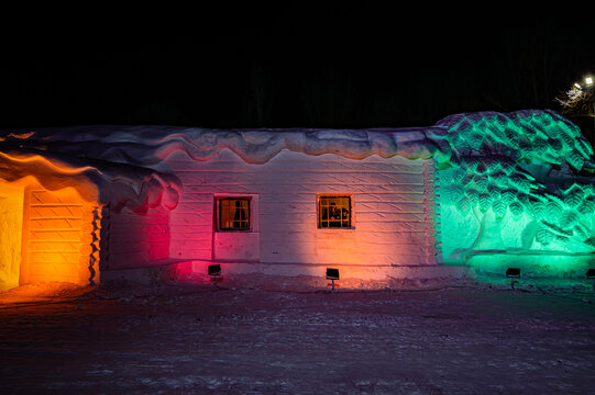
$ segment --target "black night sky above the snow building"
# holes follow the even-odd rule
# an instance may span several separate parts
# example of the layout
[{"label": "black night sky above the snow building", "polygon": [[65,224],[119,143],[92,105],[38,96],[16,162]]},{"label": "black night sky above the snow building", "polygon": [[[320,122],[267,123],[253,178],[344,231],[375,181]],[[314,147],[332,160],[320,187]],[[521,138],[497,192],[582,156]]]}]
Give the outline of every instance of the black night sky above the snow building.
[{"label": "black night sky above the snow building", "polygon": [[555,11],[260,11],[3,27],[0,127],[429,126],[559,110],[554,97],[595,71],[591,24]]}]

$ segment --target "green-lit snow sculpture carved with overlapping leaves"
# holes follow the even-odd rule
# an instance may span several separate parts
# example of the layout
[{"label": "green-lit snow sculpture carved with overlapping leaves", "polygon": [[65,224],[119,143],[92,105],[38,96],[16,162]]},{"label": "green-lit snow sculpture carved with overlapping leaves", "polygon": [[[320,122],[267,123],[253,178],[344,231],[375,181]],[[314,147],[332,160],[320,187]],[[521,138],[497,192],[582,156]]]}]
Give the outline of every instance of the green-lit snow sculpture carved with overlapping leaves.
[{"label": "green-lit snow sculpture carved with overlapping leaves", "polygon": [[440,170],[447,260],[595,251],[593,148],[579,127],[550,111],[458,114],[436,126],[452,150]]}]

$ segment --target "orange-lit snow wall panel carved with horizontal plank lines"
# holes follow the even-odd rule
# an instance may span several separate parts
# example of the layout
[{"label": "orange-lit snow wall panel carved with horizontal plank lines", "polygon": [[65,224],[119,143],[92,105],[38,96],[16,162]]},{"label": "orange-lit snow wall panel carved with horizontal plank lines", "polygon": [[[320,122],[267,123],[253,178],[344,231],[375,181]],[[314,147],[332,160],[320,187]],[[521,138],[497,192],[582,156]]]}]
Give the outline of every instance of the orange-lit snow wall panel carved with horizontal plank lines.
[{"label": "orange-lit snow wall panel carved with horizontal plank lines", "polygon": [[98,208],[66,188],[26,189],[21,283],[99,280]]}]

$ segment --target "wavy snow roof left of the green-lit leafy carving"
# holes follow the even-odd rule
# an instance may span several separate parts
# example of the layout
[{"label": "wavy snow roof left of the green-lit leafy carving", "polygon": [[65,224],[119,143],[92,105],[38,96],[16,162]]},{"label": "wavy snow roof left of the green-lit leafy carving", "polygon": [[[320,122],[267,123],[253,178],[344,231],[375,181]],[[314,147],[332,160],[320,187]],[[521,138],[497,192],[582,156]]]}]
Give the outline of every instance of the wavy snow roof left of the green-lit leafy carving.
[{"label": "wavy snow roof left of the green-lit leafy carving", "polygon": [[184,151],[207,161],[229,149],[249,163],[265,163],[282,150],[337,154],[350,159],[395,155],[448,160],[448,143],[432,127],[381,129],[205,129],[169,126],[74,126],[0,134],[0,179],[30,176],[52,190],[75,180],[89,201],[135,212],[174,208],[183,185],[163,161]]}]

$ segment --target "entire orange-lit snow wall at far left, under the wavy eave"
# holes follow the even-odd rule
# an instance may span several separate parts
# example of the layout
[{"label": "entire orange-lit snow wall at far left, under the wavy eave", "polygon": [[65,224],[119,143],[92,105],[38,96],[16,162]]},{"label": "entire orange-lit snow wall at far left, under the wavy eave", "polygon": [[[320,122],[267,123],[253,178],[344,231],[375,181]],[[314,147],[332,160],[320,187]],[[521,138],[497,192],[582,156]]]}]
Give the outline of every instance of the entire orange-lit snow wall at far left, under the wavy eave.
[{"label": "entire orange-lit snow wall at far left, under the wavy eave", "polygon": [[48,191],[34,176],[0,181],[0,291],[26,283],[98,282],[100,208],[74,187]]}]

